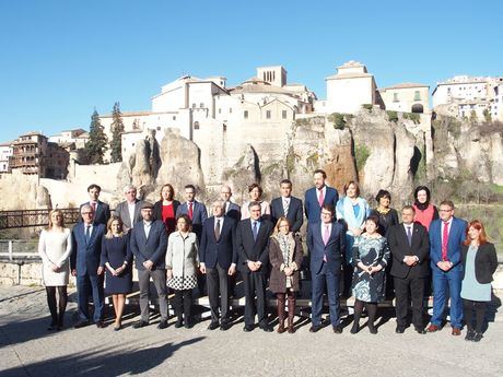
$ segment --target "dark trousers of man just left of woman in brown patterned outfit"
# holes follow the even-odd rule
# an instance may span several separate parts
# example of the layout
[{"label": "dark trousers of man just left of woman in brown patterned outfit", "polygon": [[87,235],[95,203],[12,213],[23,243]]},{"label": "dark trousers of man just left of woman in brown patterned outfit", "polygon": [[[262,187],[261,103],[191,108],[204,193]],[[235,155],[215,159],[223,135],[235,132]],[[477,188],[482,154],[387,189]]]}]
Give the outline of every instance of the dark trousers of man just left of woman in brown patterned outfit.
[{"label": "dark trousers of man just left of woman in brown patterned outfit", "polygon": [[243,283],[245,285],[245,325],[255,323],[255,313],[257,313],[258,323],[266,325],[266,275],[259,272],[244,272]]}]

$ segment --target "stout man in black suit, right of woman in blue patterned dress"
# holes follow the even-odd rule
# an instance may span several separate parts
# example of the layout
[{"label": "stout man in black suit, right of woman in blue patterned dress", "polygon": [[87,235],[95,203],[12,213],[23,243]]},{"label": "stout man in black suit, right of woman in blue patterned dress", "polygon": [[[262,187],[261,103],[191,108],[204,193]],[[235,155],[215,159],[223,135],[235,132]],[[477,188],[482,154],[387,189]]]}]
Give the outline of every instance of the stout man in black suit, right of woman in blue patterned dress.
[{"label": "stout man in black suit, right of woman in blue patterned dress", "polygon": [[388,231],[388,245],[393,255],[391,276],[395,283],[397,333],[407,327],[407,313],[412,298],[412,323],[424,334],[424,287],[430,274],[430,239],[428,229],[414,223],[416,210],[406,205],[401,210],[402,223]]}]

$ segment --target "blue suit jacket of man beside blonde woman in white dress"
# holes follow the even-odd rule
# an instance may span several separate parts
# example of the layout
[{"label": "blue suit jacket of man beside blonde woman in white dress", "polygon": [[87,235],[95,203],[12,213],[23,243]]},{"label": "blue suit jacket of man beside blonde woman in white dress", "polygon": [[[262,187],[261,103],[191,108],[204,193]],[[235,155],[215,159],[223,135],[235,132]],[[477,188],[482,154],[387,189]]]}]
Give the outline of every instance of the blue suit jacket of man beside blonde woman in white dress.
[{"label": "blue suit jacket of man beside blonde woman in white dress", "polygon": [[84,223],[77,223],[72,229],[72,250],[70,256],[71,269],[77,269],[78,276],[97,275],[102,256],[102,239],[105,225],[93,224],[90,241],[85,241]]}]

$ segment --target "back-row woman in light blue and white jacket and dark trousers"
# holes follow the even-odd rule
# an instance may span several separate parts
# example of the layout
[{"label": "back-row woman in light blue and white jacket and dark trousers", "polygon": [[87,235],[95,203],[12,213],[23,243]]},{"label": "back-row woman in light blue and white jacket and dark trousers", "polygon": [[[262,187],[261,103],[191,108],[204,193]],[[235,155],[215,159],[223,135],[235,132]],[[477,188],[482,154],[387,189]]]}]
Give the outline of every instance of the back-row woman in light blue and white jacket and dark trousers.
[{"label": "back-row woman in light blue and white jacket and dark trousers", "polygon": [[365,219],[371,214],[369,203],[360,197],[360,187],[354,180],[344,185],[344,196],[337,202],[336,214],[337,220],[346,226],[344,284],[342,296],[349,297],[351,278],[353,276],[351,250],[354,238],[363,233]]}]

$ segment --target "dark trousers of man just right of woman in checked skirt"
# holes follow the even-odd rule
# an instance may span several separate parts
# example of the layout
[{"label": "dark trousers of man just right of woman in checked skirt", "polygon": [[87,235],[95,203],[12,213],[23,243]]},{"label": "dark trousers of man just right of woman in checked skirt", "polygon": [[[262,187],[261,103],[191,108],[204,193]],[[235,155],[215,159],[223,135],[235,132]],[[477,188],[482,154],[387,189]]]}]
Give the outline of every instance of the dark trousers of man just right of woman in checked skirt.
[{"label": "dark trousers of man just right of woman in checked skirt", "polygon": [[[229,275],[227,270],[219,263],[212,269],[207,268],[206,280],[208,285],[208,298],[210,299],[211,321],[229,321]],[[220,296],[220,316],[219,316]]]}]

